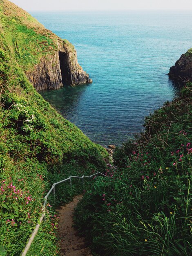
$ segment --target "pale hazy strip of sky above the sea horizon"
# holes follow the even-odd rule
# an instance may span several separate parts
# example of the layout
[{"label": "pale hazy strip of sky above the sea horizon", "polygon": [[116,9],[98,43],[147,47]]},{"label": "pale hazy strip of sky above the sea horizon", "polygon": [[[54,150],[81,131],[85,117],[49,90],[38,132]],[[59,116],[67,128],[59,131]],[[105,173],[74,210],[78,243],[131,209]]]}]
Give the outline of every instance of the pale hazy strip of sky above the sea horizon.
[{"label": "pale hazy strip of sky above the sea horizon", "polygon": [[192,0],[11,0],[27,11],[188,9]]}]

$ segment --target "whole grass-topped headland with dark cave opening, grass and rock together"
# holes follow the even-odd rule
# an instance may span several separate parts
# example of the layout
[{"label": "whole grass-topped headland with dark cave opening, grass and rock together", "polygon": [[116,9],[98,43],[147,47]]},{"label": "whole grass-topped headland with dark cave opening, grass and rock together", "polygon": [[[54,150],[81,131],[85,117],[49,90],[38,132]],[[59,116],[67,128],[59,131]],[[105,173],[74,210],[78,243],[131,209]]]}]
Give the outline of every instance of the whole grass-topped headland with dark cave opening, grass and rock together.
[{"label": "whole grass-topped headland with dark cave opening, grass and rock together", "polygon": [[78,64],[74,46],[45,29],[29,13],[0,0],[1,31],[9,49],[36,90],[91,83]]}]

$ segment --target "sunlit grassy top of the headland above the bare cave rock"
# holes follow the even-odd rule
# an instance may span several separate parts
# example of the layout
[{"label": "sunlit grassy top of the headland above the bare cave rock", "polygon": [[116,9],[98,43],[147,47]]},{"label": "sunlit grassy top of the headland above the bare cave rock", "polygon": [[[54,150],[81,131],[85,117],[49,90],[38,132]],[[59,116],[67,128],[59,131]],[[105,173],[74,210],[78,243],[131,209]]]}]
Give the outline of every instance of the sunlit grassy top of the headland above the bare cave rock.
[{"label": "sunlit grassy top of the headland above the bare cave rock", "polygon": [[[58,36],[8,0],[0,0],[0,31],[25,72],[33,70],[42,57],[46,58],[58,48]],[[63,43],[74,49],[67,40]]]}]

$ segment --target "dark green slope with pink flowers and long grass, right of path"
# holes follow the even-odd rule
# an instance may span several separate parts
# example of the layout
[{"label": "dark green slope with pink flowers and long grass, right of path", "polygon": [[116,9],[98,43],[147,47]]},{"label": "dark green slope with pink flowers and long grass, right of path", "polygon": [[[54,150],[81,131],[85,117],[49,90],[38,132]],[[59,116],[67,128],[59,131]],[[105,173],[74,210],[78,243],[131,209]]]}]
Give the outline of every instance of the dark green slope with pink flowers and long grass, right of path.
[{"label": "dark green slope with pink flowers and long grass, right of path", "polygon": [[145,118],[76,209],[93,255],[192,255],[192,84]]}]

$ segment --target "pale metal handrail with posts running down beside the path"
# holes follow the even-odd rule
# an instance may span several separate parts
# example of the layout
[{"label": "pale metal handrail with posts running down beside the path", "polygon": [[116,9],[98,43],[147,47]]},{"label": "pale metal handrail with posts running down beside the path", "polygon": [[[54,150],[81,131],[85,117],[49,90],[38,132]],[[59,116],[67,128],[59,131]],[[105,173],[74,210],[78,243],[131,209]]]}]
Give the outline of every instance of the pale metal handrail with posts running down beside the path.
[{"label": "pale metal handrail with posts running down beside the path", "polygon": [[[112,166],[112,167],[114,167],[114,166]],[[30,246],[31,246],[31,243],[33,242],[33,240],[34,240],[34,238],[35,238],[35,236],[36,236],[36,234],[37,234],[37,232],[38,232],[38,229],[39,229],[39,227],[40,227],[40,225],[41,225],[41,223],[42,223],[42,220],[43,220],[43,219],[45,218],[45,216],[46,216],[47,198],[49,197],[49,195],[51,194],[52,191],[53,191],[53,193],[54,193],[54,202],[55,202],[55,186],[58,185],[58,184],[60,184],[60,183],[65,182],[65,181],[67,181],[67,180],[70,180],[70,186],[72,186],[71,178],[80,178],[80,179],[83,179],[83,186],[84,186],[84,177],[90,178],[91,181],[92,181],[92,177],[93,177],[93,176],[96,176],[96,175],[98,176],[98,174],[103,175],[103,176],[106,177],[105,174],[100,173],[100,172],[97,172],[97,173],[92,174],[92,175],[90,175],[90,176],[85,176],[85,175],[83,175],[83,176],[81,176],[81,177],[80,177],[80,176],[69,176],[69,178],[67,178],[67,179],[65,179],[65,180],[61,180],[61,181],[59,181],[59,182],[56,182],[56,183],[54,183],[54,184],[51,186],[51,189],[49,190],[49,192],[47,193],[47,195],[45,195],[45,197],[44,197],[45,200],[44,200],[44,204],[43,204],[43,207],[42,207],[42,215],[40,216],[40,218],[39,218],[39,220],[38,220],[38,223],[37,223],[35,229],[33,230],[33,232],[32,232],[32,234],[31,234],[31,236],[30,236],[30,238],[29,238],[29,240],[28,240],[28,242],[27,242],[27,244],[26,244],[26,246],[25,246],[25,249],[23,250],[21,256],[26,256],[26,254],[27,254],[27,252],[29,251],[29,248],[30,248]]]}]

